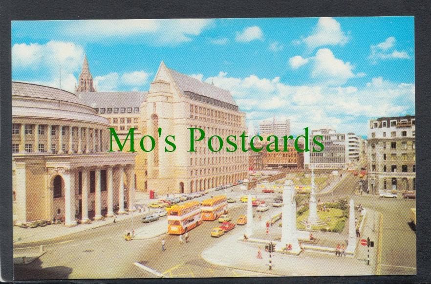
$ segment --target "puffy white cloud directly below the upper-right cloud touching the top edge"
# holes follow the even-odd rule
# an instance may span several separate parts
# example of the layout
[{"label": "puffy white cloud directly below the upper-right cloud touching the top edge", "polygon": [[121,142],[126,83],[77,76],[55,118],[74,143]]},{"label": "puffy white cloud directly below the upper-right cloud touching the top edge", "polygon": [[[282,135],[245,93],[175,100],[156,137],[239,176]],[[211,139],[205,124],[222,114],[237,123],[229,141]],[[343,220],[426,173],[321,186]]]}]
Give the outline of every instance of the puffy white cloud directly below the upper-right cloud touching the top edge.
[{"label": "puffy white cloud directly below the upper-right cloud touching the top edge", "polygon": [[336,58],[330,49],[322,48],[316,53],[311,77],[328,85],[343,85],[355,77],[352,70],[353,66],[349,62]]}]

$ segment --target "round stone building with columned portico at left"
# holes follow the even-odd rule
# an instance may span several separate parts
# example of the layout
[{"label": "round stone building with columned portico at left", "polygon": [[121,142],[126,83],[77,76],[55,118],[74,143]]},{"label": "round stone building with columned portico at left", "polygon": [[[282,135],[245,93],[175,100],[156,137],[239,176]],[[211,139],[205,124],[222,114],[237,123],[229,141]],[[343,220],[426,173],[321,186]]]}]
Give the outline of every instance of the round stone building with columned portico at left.
[{"label": "round stone building with columned portico at left", "polygon": [[[108,120],[75,94],[12,82],[12,182],[16,223],[66,226],[134,209],[133,153],[107,153]],[[126,190],[127,189],[127,190]]]}]

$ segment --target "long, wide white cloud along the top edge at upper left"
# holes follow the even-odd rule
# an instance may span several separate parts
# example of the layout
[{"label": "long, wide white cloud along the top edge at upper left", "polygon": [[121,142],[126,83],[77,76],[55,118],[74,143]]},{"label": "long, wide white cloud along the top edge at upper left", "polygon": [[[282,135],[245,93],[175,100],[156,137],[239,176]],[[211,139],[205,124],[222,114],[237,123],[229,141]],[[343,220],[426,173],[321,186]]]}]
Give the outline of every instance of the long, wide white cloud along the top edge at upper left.
[{"label": "long, wide white cloud along the top edge at upper left", "polygon": [[194,36],[213,25],[211,19],[81,20],[67,22],[63,31],[86,41],[134,37],[151,44],[174,45],[192,41]]}]

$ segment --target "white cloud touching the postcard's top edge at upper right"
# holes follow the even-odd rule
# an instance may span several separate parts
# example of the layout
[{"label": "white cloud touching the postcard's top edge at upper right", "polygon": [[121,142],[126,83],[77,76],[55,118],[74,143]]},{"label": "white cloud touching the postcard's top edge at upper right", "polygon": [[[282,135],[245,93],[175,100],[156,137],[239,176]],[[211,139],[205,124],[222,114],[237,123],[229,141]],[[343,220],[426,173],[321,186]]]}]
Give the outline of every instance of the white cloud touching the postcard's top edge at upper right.
[{"label": "white cloud touching the postcard's top edge at upper right", "polygon": [[319,18],[313,33],[304,38],[304,42],[310,49],[324,45],[345,44],[348,37],[341,29],[341,25],[333,18]]}]

